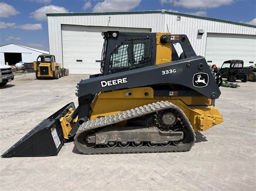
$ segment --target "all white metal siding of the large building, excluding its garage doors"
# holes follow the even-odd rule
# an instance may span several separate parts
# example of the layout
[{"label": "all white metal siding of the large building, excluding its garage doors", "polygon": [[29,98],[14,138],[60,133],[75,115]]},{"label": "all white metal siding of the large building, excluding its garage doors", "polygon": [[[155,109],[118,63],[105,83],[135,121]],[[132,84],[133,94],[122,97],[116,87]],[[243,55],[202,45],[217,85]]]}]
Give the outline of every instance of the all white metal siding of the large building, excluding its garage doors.
[{"label": "all white metal siding of the large building, excluding its garage doors", "polygon": [[[171,13],[124,13],[113,15],[67,15],[49,16],[49,48],[50,53],[56,55],[58,62],[62,62],[62,33],[61,25],[83,26],[112,26],[134,27],[152,29],[152,32],[169,32],[173,34],[186,34],[198,55],[205,56],[207,33],[230,33],[230,34],[256,34],[255,27],[233,23],[219,22],[189,16],[180,16]],[[204,30],[203,36],[198,36],[198,30]],[[181,53],[181,49],[178,48]]]}]

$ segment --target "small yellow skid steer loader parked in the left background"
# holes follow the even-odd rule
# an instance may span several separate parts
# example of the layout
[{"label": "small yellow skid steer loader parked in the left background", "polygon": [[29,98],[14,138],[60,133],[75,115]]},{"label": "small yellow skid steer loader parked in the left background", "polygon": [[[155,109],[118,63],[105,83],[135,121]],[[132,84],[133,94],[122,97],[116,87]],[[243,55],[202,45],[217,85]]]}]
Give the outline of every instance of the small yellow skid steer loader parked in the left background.
[{"label": "small yellow skid steer loader parked in the left background", "polygon": [[37,60],[33,62],[36,71],[36,79],[64,77],[69,75],[69,70],[62,68],[59,63],[55,62],[55,56],[50,54],[39,55]]}]

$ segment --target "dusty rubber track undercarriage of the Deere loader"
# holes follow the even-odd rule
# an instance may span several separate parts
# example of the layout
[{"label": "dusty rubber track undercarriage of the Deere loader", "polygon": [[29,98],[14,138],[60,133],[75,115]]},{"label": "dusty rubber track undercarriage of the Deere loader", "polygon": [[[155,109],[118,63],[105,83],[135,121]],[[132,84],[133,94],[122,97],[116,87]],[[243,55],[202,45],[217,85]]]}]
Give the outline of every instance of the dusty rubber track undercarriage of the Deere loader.
[{"label": "dusty rubber track undercarriage of the Deere loader", "polygon": [[75,145],[83,154],[183,152],[195,140],[184,112],[161,101],[85,122]]}]

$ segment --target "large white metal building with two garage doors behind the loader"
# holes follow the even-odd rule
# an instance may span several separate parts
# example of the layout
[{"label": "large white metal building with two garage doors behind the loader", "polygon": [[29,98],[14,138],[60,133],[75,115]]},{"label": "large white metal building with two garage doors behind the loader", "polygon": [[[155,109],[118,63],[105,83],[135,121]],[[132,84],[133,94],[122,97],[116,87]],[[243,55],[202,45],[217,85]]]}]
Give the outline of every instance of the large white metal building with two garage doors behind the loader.
[{"label": "large white metal building with two garage doors behind the loader", "polygon": [[[209,64],[225,60],[256,62],[256,26],[169,11],[51,13],[50,53],[73,74],[99,73],[103,31],[144,31],[186,34],[198,55]],[[176,45],[178,52],[182,50]]]}]

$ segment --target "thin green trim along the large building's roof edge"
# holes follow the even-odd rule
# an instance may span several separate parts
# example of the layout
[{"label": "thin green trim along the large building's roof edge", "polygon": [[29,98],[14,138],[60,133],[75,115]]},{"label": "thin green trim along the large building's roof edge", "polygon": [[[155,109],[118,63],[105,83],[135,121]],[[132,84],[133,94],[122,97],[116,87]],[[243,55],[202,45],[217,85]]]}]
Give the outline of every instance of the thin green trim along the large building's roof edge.
[{"label": "thin green trim along the large building's roof edge", "polygon": [[171,11],[165,11],[165,10],[162,10],[162,11],[129,11],[129,12],[48,13],[48,14],[46,14],[46,16],[54,17],[54,16],[86,16],[86,15],[124,15],[124,14],[147,14],[147,13],[167,13],[170,15],[178,15],[178,16],[184,16],[184,17],[213,20],[216,22],[230,23],[230,24],[235,24],[235,25],[242,25],[242,26],[249,26],[249,27],[256,28],[255,25],[249,25],[249,24],[245,24],[245,23],[238,23],[238,22],[233,22],[233,21],[229,21],[229,20],[214,19],[214,18],[209,18],[209,17],[200,17],[200,16],[195,16],[195,15],[187,15],[184,13],[171,12]]}]

